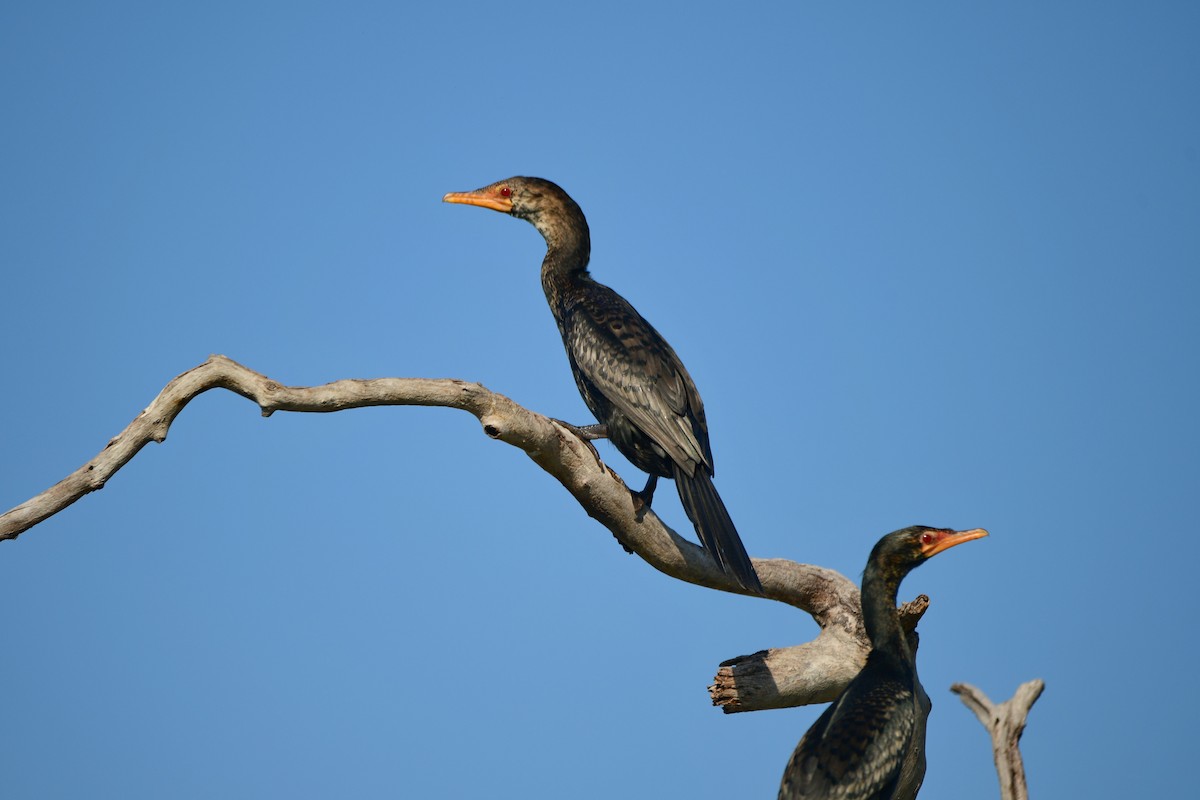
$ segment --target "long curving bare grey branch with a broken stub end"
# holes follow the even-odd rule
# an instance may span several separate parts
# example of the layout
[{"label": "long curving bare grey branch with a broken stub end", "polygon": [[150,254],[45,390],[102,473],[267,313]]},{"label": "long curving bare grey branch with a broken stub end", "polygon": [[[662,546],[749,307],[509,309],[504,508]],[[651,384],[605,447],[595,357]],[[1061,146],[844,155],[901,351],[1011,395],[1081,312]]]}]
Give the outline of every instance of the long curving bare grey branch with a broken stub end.
[{"label": "long curving bare grey branch with a broken stub end", "polygon": [[[283,386],[230,359],[210,356],[173,379],[108,445],[74,473],[0,516],[0,541],[62,511],[104,487],[146,444],[162,443],[194,397],[226,389],[253,401],[263,416],[275,411],[328,413],[368,405],[438,405],[479,419],[484,433],[521,449],[553,475],[584,511],[654,569],[710,589],[745,594],[697,545],[662,524],[598,457],[558,422],[473,383],[452,379],[379,378],[320,386]],[[832,700],[862,668],[869,644],[858,587],[845,576],[786,559],[755,559],[764,596],[794,606],[821,626],[810,643],[725,662],[710,693],[726,712]],[[910,626],[923,607],[908,609]]]}]

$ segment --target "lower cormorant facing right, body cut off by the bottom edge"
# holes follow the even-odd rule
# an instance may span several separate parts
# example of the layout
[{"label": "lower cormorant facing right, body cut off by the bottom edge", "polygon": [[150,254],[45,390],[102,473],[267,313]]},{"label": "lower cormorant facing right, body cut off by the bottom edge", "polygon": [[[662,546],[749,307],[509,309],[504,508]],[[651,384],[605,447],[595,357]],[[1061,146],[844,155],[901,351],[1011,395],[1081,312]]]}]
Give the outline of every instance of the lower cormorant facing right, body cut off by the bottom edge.
[{"label": "lower cormorant facing right, body cut off by the bottom edge", "polygon": [[916,525],[878,541],[863,572],[863,625],[871,639],[866,666],[796,746],[779,800],[917,796],[925,777],[924,728],[918,724],[922,692],[916,654],[896,614],[896,590],[925,560],[986,535],[982,528]]}]

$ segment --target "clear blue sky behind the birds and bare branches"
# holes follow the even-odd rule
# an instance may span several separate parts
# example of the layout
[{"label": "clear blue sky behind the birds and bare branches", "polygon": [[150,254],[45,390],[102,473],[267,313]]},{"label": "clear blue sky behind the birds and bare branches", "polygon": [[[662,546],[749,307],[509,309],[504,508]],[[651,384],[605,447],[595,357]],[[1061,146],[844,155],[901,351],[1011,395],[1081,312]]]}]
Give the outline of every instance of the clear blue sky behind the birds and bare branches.
[{"label": "clear blue sky behind the birds and bare branches", "polygon": [[[540,236],[440,201],[539,175],[696,379],[751,554],[857,581],[893,529],[992,531],[901,588],[923,800],[997,793],[948,686],[1032,678],[1034,796],[1184,796],[1198,35],[1190,2],[7,2],[0,506],[210,353],[590,421]],[[713,709],[812,620],[660,576],[451,410],[205,395],[0,545],[0,593],[7,798],[772,798],[822,710]]]}]

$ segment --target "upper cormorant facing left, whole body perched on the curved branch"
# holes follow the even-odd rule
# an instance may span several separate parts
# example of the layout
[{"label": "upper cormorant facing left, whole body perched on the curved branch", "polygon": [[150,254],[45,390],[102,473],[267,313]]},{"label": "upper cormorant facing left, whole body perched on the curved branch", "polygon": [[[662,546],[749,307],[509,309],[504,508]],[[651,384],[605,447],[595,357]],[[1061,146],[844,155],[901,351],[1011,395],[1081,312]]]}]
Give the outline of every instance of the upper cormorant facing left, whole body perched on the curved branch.
[{"label": "upper cormorant facing left, whole body perched on the curved branch", "polygon": [[737,528],[713,486],[713,452],[704,405],[666,339],[619,294],[588,273],[592,240],[580,206],[540,178],[510,178],[443,200],[503,211],[526,219],[546,239],[541,287],[558,323],[575,384],[599,426],[635,467],[649,474],[647,505],[659,477],[679,489],[704,549],[749,591],[762,585]]}]

